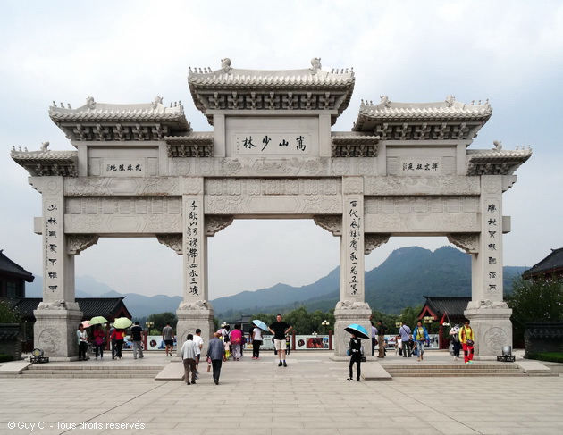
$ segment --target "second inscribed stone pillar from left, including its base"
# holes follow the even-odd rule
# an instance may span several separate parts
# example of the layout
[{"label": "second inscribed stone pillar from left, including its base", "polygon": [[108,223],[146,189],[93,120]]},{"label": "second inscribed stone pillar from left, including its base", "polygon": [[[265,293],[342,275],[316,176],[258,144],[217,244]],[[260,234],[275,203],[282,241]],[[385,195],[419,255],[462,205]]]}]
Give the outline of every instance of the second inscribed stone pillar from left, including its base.
[{"label": "second inscribed stone pillar from left, including its base", "polygon": [[207,236],[204,210],[204,180],[182,179],[182,254],[184,271],[183,302],[178,307],[178,355],[189,333],[201,329],[206,343],[213,336],[214,309],[208,302]]}]

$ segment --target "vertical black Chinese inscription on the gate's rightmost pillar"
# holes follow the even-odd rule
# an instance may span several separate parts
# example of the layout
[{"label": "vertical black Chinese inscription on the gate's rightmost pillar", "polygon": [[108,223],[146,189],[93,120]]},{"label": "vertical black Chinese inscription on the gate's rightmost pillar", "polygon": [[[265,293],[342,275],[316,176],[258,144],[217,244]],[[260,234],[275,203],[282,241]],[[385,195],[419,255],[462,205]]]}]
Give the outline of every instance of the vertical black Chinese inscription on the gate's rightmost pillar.
[{"label": "vertical black Chinese inscription on the gate's rightmost pillar", "polygon": [[485,275],[487,292],[495,295],[500,290],[498,288],[500,278],[500,209],[499,202],[496,200],[488,200],[485,203],[487,210],[485,213],[486,220],[486,242],[483,244],[486,252],[488,266]]}]

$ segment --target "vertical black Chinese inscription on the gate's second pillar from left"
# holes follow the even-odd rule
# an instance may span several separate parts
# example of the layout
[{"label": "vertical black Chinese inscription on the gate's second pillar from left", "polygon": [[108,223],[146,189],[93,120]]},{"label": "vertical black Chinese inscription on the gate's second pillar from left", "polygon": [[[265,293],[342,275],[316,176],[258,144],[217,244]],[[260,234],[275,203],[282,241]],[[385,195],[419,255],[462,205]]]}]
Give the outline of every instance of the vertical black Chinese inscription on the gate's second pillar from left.
[{"label": "vertical black Chinese inscription on the gate's second pillar from left", "polygon": [[186,264],[188,281],[187,291],[189,296],[199,296],[201,289],[198,264],[201,261],[201,247],[199,246],[200,231],[202,230],[201,222],[201,204],[198,199],[190,199],[187,203],[188,213],[186,219]]}]

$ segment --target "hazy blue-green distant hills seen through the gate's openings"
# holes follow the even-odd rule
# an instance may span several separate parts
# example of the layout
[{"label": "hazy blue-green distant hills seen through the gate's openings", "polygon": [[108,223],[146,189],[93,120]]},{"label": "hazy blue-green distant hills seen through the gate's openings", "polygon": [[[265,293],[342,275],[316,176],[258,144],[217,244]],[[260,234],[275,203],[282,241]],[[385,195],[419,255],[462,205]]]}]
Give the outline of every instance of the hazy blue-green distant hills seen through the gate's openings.
[{"label": "hazy blue-green distant hills seen through the gate's openings", "polygon": [[[512,280],[526,267],[505,266],[504,289],[509,293]],[[42,279],[36,276],[26,286],[28,297],[41,297]],[[301,287],[276,284],[268,289],[243,291],[229,297],[211,300],[215,316],[229,318],[240,313],[286,312],[298,306],[307,310],[333,309],[340,299],[340,268],[320,280]],[[182,297],[157,295],[147,297],[136,293],[125,295],[89,276],[76,277],[77,297],[122,297],[135,317],[175,312]],[[378,267],[366,272],[366,302],[372,309],[399,314],[406,306],[424,303],[424,296],[471,296],[471,257],[454,247],[430,251],[422,247],[402,247],[391,253]]]}]

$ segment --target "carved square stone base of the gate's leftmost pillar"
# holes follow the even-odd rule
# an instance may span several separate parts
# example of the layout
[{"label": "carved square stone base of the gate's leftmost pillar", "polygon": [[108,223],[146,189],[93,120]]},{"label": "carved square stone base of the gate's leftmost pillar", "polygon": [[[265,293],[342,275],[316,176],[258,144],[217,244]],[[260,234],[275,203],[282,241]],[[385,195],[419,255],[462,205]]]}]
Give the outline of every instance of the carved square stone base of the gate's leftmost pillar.
[{"label": "carved square stone base of the gate's leftmost pillar", "polygon": [[57,361],[70,361],[78,358],[78,339],[76,331],[82,322],[82,312],[78,309],[41,309],[33,312],[36,322],[33,325],[33,346],[43,350],[44,355]]}]

